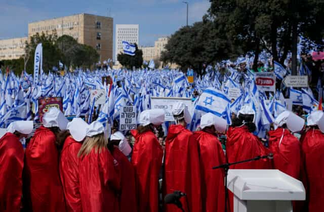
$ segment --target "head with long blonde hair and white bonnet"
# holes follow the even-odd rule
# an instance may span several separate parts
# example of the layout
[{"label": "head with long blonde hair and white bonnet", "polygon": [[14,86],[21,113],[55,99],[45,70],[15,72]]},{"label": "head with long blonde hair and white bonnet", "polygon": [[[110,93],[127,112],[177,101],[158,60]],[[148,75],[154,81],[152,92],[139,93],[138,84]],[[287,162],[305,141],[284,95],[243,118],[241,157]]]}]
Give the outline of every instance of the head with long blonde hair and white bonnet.
[{"label": "head with long blonde hair and white bonnet", "polygon": [[86,138],[77,156],[88,155],[92,149],[95,149],[95,153],[101,153],[102,149],[107,148],[107,144],[108,140],[105,139],[103,125],[98,121],[94,121],[87,129]]}]

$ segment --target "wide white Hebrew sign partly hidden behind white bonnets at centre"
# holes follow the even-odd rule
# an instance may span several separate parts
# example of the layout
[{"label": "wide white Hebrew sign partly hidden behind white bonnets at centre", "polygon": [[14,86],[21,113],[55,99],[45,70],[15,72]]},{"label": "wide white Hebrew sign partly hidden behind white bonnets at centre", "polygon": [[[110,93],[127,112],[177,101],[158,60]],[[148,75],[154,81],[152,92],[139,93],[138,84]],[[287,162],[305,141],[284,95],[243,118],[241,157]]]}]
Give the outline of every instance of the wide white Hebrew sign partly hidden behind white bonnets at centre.
[{"label": "wide white Hebrew sign partly hidden behind white bonnets at centre", "polygon": [[[192,112],[191,98],[180,97],[151,97],[151,109],[163,109],[166,112],[165,121],[174,121],[172,115],[172,105],[176,102],[182,101],[187,107],[189,112]],[[192,116],[192,114],[191,114]]]}]

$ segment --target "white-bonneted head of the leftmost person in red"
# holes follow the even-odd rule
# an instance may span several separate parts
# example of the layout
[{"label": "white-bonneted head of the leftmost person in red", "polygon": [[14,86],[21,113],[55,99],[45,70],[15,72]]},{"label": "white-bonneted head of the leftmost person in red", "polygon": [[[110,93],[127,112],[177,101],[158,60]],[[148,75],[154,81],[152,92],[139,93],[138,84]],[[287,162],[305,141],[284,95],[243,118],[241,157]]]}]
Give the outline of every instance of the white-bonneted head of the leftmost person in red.
[{"label": "white-bonneted head of the leftmost person in red", "polygon": [[33,122],[32,121],[16,121],[10,123],[7,128],[7,131],[16,135],[19,139],[27,138],[28,135],[33,130]]}]

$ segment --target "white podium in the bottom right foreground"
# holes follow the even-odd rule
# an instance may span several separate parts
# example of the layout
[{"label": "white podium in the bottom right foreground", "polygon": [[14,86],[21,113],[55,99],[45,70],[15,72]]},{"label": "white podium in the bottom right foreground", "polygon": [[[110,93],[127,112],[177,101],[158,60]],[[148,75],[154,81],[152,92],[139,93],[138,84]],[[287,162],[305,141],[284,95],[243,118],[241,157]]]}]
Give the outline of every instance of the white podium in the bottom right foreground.
[{"label": "white podium in the bottom right foreground", "polygon": [[292,200],[305,200],[299,180],[279,170],[230,169],[227,188],[234,212],[293,212]]}]

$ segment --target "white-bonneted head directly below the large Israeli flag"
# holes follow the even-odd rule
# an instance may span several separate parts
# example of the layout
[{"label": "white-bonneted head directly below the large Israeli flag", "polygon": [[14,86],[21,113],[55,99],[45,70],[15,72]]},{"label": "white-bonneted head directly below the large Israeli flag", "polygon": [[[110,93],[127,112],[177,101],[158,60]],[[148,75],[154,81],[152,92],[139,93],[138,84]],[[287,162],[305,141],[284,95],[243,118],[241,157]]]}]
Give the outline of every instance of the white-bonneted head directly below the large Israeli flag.
[{"label": "white-bonneted head directly below the large Israeli flag", "polygon": [[227,122],[225,119],[215,116],[214,114],[207,113],[201,116],[200,128],[209,133],[224,134],[226,133]]}]

